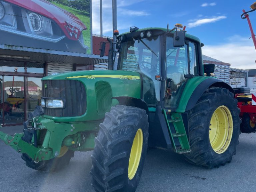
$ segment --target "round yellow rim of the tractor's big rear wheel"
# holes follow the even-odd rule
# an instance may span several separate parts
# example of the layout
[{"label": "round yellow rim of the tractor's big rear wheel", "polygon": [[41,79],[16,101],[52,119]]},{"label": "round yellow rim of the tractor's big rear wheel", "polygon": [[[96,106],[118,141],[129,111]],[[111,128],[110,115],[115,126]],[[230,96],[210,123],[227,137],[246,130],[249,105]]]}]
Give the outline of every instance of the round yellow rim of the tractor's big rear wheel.
[{"label": "round yellow rim of the tractor's big rear wheel", "polygon": [[231,142],[233,134],[233,118],[230,110],[222,105],[218,107],[211,118],[209,138],[212,149],[218,153],[224,153]]}]

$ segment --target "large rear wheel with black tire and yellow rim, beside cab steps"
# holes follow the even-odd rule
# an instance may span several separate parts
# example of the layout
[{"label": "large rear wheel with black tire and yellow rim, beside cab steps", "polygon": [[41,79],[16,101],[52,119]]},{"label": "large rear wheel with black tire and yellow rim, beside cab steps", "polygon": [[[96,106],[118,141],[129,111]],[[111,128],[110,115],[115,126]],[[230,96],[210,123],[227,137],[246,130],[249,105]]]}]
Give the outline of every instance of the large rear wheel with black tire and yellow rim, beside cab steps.
[{"label": "large rear wheel with black tire and yellow rim, beside cab steps", "polygon": [[191,152],[185,159],[210,169],[230,163],[239,143],[239,112],[228,89],[207,89],[188,113]]}]

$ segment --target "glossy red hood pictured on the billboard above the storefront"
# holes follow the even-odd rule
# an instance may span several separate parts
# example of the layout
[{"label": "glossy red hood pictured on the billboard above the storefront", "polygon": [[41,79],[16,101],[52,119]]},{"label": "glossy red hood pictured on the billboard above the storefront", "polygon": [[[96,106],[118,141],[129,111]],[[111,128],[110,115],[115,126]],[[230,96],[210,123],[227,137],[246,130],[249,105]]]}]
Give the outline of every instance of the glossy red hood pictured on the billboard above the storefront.
[{"label": "glossy red hood pictured on the billboard above the storefront", "polygon": [[[45,0],[5,1],[55,21],[69,39],[77,40],[81,32],[86,30],[86,26],[75,15]],[[68,29],[73,31],[70,32]],[[73,35],[74,31],[77,32],[76,35]]]}]

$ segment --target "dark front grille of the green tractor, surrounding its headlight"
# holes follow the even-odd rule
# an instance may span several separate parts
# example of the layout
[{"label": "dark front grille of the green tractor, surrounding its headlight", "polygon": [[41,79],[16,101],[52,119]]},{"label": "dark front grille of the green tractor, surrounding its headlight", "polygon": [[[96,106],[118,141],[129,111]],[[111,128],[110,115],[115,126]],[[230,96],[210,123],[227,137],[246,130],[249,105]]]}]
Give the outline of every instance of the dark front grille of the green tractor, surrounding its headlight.
[{"label": "dark front grille of the green tractor, surrounding its headlight", "polygon": [[81,116],[86,112],[86,91],[84,85],[76,80],[42,81],[42,97],[63,99],[64,109],[44,108],[44,115],[52,117]]}]

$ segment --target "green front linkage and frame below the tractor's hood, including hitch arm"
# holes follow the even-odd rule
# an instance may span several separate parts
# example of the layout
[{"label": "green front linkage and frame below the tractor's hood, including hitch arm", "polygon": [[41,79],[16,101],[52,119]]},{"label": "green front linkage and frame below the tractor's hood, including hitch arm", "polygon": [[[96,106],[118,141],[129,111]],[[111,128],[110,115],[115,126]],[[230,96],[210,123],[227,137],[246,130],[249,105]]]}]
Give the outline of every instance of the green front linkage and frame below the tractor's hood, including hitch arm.
[{"label": "green front linkage and frame below the tractor's hood, including hitch arm", "polygon": [[[38,116],[33,117],[30,123],[31,126],[24,129],[23,133],[16,133],[14,136],[0,131],[0,139],[19,153],[25,153],[39,162],[61,156],[63,147],[73,151],[92,150],[101,122],[55,123]],[[34,134],[28,139],[26,134],[29,132],[35,132],[37,137]]]}]

